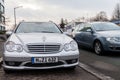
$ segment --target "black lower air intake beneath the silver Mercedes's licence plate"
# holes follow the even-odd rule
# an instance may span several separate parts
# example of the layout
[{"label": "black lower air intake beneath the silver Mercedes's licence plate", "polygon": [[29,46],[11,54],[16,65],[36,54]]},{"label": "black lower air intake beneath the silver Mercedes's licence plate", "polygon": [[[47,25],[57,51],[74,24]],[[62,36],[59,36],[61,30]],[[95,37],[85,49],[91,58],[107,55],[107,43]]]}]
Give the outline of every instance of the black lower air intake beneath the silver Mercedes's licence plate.
[{"label": "black lower air intake beneath the silver Mercedes's licence plate", "polygon": [[27,63],[24,66],[27,67],[52,67],[52,66],[59,66],[63,65],[63,62],[57,62],[57,63],[40,63],[40,64],[32,64],[32,63]]}]

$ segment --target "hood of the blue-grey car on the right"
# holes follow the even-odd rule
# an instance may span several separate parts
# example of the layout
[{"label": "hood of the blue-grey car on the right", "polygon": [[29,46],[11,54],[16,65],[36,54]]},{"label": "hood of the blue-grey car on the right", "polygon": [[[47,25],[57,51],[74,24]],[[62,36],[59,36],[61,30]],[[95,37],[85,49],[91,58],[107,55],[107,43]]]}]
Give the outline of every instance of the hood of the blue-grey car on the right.
[{"label": "hood of the blue-grey car on the right", "polygon": [[104,37],[120,37],[120,30],[100,31],[100,32],[97,32],[97,33],[104,36]]}]

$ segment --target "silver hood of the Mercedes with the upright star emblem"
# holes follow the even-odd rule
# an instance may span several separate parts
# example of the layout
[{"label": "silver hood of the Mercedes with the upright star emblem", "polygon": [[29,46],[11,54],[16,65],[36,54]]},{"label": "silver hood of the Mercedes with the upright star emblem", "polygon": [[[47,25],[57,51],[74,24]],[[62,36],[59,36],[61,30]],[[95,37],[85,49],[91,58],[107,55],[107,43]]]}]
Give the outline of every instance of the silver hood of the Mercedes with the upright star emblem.
[{"label": "silver hood of the Mercedes with the upright star emblem", "polygon": [[[29,43],[68,43],[73,39],[64,35],[56,33],[19,33],[13,34],[16,36],[23,44]],[[14,39],[14,37],[11,39]]]}]

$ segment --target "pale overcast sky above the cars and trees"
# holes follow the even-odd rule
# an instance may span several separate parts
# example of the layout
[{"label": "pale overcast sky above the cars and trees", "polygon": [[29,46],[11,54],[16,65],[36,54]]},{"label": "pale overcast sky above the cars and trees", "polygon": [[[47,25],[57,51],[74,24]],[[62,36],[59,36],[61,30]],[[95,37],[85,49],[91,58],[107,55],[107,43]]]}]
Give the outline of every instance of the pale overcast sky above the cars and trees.
[{"label": "pale overcast sky above the cars and trees", "polygon": [[17,22],[49,21],[60,22],[61,18],[74,20],[78,17],[91,17],[105,11],[110,17],[120,0],[5,0],[6,16],[13,23],[13,9],[16,9]]}]

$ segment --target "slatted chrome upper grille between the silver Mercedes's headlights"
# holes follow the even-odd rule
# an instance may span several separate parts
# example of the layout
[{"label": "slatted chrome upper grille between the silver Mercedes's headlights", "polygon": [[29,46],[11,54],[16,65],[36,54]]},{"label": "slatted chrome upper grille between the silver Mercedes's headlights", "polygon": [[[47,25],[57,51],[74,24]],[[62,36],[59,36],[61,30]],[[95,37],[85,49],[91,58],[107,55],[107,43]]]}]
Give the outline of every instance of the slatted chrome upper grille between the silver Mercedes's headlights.
[{"label": "slatted chrome upper grille between the silver Mercedes's headlights", "polygon": [[55,53],[60,51],[60,44],[57,45],[38,45],[30,44],[27,45],[30,53]]}]

